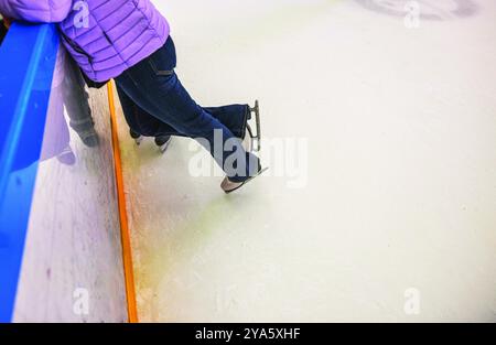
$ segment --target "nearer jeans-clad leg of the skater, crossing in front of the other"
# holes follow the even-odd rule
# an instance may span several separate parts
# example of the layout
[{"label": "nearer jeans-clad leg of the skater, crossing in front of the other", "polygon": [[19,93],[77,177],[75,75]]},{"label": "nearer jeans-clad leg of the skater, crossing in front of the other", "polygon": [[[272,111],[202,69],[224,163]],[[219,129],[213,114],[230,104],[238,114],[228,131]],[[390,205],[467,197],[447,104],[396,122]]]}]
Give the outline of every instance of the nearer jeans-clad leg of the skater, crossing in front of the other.
[{"label": "nearer jeans-clad leg of the skater, crossing in front of the other", "polygon": [[175,50],[172,40],[168,40],[162,48],[126,71],[116,82],[140,108],[205,144],[231,181],[242,182],[258,173],[258,158],[247,153],[223,122],[191,98],[174,67]]}]

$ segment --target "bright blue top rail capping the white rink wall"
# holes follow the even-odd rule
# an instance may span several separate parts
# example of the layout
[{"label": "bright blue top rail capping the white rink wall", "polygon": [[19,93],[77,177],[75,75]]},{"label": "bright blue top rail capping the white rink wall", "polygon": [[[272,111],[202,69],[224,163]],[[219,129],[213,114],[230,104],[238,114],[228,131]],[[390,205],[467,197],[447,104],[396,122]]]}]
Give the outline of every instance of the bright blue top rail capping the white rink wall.
[{"label": "bright blue top rail capping the white rink wall", "polygon": [[[54,25],[22,23],[0,48],[0,322],[13,316],[57,50]],[[25,155],[37,160],[14,174]]]}]

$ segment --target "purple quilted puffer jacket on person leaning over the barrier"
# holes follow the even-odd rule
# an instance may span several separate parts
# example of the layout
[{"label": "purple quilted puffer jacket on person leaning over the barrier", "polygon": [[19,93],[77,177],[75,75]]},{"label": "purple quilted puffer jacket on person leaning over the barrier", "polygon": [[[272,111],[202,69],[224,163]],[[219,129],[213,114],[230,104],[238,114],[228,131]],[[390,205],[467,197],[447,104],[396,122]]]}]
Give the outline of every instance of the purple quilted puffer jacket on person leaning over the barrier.
[{"label": "purple quilted puffer jacket on person leaning over the barrier", "polygon": [[95,82],[117,77],[148,57],[170,32],[150,0],[0,0],[0,13],[60,23],[64,45]]}]

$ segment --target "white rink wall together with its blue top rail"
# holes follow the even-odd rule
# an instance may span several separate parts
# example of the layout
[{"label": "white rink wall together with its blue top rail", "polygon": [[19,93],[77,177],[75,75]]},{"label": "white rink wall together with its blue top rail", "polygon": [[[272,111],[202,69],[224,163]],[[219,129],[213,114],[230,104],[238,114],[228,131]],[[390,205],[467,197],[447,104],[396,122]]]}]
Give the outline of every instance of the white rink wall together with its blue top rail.
[{"label": "white rink wall together with its blue top rail", "polygon": [[[107,93],[86,91],[55,26],[11,26],[0,47],[1,322],[128,320]],[[85,142],[93,127],[99,141]]]}]

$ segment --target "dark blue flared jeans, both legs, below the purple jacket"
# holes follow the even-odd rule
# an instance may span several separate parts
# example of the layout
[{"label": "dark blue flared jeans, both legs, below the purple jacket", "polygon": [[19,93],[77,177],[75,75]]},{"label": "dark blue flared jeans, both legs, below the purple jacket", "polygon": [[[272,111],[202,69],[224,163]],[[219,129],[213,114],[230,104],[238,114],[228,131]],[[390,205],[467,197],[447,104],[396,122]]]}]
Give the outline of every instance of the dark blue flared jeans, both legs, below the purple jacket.
[{"label": "dark blue flared jeans, both legs, below the purple jacket", "polygon": [[179,80],[175,65],[175,47],[169,37],[160,50],[116,78],[129,127],[147,137],[196,139],[231,181],[249,179],[258,172],[259,160],[238,140],[246,134],[249,106],[202,108]]}]

